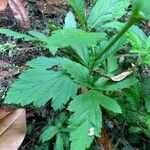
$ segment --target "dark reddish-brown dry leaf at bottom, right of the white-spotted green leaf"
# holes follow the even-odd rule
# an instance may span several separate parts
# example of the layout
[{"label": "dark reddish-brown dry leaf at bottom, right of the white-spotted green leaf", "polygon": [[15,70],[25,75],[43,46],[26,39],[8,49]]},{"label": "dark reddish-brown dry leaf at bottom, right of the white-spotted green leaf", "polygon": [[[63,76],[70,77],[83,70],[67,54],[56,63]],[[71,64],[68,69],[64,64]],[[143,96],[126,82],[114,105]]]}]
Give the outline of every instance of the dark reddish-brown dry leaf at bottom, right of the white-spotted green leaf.
[{"label": "dark reddish-brown dry leaf at bottom, right of the white-spotted green leaf", "polygon": [[98,138],[98,142],[102,144],[104,150],[112,150],[112,143],[109,140],[108,133],[104,127],[102,128],[101,137]]}]

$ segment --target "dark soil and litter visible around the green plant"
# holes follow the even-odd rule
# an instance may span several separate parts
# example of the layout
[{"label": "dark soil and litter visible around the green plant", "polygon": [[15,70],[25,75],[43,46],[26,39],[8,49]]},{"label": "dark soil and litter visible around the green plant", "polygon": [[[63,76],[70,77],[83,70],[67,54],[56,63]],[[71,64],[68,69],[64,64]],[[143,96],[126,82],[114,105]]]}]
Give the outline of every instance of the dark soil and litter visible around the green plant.
[{"label": "dark soil and litter visible around the green plant", "polygon": [[[63,5],[54,5],[52,12],[45,10],[44,12],[41,11],[42,8],[39,8],[34,1],[29,1],[27,9],[30,14],[31,20],[31,27],[30,29],[36,29],[38,31],[48,33],[48,23],[52,23],[55,25],[63,26],[63,18],[66,12],[69,10],[69,7]],[[61,8],[61,11],[60,11]],[[51,9],[50,9],[51,10]],[[59,11],[58,11],[59,10]],[[149,23],[143,22],[141,24],[142,28],[145,30],[146,33],[150,34]],[[25,32],[26,30],[21,28],[19,24],[15,21],[15,19],[11,16],[11,12],[7,9],[6,12],[0,13],[0,27],[10,28],[15,31]],[[10,37],[0,36],[0,44],[9,43],[9,49],[4,49],[1,52],[0,47],[0,71],[7,71],[15,70],[20,67],[23,67],[25,63],[37,56],[48,56],[50,54],[45,51],[44,49],[32,45],[31,43],[26,44],[21,40],[15,40]],[[14,46],[14,47],[13,47]],[[149,71],[149,68],[147,69]],[[20,70],[19,70],[20,71]],[[17,78],[18,73],[10,74],[9,76],[0,77],[0,105],[2,105],[3,98],[5,92],[7,91],[8,87]],[[12,107],[12,106],[11,106]],[[41,108],[35,109],[32,106],[27,106],[27,124],[28,124],[28,131],[25,137],[20,150],[33,150],[35,146],[40,146],[39,142],[39,135],[41,129],[45,126],[46,122],[49,118],[54,118],[57,113],[53,112],[49,108]],[[140,139],[140,146],[139,143],[134,143],[131,147],[131,144],[128,142],[128,125],[126,122],[119,123],[117,120],[104,115],[104,124],[107,128],[107,132],[109,133],[109,139],[112,141],[114,149],[144,149],[144,147],[149,147],[149,141],[143,135]],[[53,143],[50,143],[53,145]],[[139,148],[140,147],[140,148]],[[96,140],[93,144],[93,149],[101,150],[102,146]]]}]

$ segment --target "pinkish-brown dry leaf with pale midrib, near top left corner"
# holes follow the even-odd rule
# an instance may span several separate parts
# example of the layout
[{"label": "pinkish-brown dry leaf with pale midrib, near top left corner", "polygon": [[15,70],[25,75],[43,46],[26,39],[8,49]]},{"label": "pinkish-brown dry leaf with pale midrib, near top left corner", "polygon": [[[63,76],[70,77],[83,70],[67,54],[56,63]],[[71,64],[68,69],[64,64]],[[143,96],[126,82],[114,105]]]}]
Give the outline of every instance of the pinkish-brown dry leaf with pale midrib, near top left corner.
[{"label": "pinkish-brown dry leaf with pale midrib, near top left corner", "polygon": [[8,4],[15,19],[19,21],[24,28],[28,28],[30,26],[30,20],[23,2],[20,0],[8,0]]}]

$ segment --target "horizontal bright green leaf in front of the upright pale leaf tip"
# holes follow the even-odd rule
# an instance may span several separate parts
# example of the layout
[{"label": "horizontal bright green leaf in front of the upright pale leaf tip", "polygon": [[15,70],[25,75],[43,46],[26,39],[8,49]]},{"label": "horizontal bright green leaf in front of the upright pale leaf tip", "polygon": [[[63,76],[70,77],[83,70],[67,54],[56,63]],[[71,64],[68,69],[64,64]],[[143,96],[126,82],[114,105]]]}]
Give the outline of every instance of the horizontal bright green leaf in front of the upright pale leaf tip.
[{"label": "horizontal bright green leaf in front of the upright pale leaf tip", "polygon": [[[63,38],[62,38],[63,37]],[[85,32],[81,29],[63,29],[56,30],[52,32],[52,36],[49,37],[48,45],[65,48],[72,47],[75,52],[84,59],[85,54],[88,53],[86,47],[91,47],[96,45],[99,41],[106,39],[106,34],[95,33],[95,32]]]}]

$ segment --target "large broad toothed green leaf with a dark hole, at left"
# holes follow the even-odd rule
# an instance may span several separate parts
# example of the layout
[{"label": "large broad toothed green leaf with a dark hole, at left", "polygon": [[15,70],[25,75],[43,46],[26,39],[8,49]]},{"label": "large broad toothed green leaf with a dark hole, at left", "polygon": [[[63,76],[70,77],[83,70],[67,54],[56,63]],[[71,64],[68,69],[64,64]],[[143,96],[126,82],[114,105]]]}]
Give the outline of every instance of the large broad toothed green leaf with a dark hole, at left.
[{"label": "large broad toothed green leaf with a dark hole, at left", "polygon": [[[39,60],[39,62],[38,62]],[[52,99],[54,110],[63,107],[70,97],[75,96],[78,85],[65,72],[53,71],[53,60],[38,58],[29,62],[30,69],[24,71],[10,87],[5,103],[21,104],[22,106],[33,103],[34,106],[44,106]],[[45,62],[47,61],[47,64]],[[52,61],[52,63],[51,63]],[[42,62],[42,63],[41,63]],[[55,63],[57,66],[59,63]],[[53,66],[52,66],[53,68]]]}]

